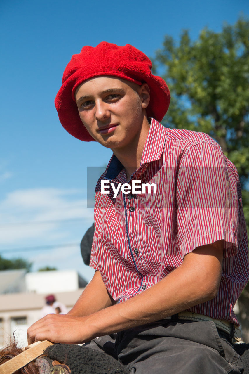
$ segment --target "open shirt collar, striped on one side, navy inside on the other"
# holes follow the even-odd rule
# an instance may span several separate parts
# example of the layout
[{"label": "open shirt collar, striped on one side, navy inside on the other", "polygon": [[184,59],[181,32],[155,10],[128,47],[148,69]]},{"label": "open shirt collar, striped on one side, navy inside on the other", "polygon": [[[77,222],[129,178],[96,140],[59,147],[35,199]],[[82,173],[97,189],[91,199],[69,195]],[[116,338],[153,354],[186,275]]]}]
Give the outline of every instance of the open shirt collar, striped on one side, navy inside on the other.
[{"label": "open shirt collar, striped on one side, navy inside on the other", "polygon": [[[160,159],[167,135],[167,129],[161,123],[154,118],[148,120],[150,120],[150,130],[145,141],[140,167],[148,162]],[[122,169],[124,169],[124,166],[113,154],[106,169],[105,179],[115,180]]]}]

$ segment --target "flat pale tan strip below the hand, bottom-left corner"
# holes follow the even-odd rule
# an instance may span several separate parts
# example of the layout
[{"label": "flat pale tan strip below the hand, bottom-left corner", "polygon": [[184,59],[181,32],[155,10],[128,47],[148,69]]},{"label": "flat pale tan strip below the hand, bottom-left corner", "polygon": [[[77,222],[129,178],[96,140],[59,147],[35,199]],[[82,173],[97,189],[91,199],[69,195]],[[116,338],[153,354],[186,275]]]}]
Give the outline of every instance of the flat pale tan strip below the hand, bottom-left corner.
[{"label": "flat pale tan strip below the hand, bottom-left corner", "polygon": [[37,341],[24,348],[23,352],[0,365],[0,374],[13,374],[43,354],[44,350],[53,345],[51,341]]}]

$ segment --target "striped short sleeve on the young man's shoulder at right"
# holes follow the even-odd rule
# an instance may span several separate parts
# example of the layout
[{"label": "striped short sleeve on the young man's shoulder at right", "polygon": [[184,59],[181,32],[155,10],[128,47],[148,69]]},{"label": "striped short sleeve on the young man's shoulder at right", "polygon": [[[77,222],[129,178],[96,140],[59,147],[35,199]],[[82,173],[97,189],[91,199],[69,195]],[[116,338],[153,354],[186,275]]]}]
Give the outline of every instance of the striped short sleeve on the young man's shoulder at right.
[{"label": "striped short sleeve on the young man's shoulder at right", "polygon": [[224,239],[224,257],[237,252],[239,179],[219,145],[202,142],[182,156],[176,182],[176,240],[182,258]]}]

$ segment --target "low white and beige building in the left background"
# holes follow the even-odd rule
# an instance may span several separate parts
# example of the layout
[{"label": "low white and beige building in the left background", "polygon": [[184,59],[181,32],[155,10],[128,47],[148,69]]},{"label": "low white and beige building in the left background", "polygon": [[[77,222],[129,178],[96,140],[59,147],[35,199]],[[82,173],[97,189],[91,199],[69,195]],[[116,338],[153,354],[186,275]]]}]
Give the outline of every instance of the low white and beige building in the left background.
[{"label": "low white and beige building in the left background", "polygon": [[9,344],[14,332],[18,346],[27,345],[27,329],[41,318],[47,294],[70,310],[86,284],[75,270],[0,271],[0,347]]}]

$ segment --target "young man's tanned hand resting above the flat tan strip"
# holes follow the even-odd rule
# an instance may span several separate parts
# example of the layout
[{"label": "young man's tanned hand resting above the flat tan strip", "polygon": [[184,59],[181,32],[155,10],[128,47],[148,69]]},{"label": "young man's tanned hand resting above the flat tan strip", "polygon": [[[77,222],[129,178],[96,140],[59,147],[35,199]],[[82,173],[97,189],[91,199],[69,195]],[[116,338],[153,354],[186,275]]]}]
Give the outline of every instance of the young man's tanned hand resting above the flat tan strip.
[{"label": "young man's tanned hand resting above the flat tan strip", "polygon": [[80,344],[91,340],[84,317],[48,314],[28,328],[28,344],[40,340],[53,343]]}]

